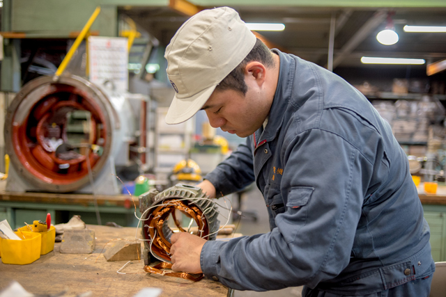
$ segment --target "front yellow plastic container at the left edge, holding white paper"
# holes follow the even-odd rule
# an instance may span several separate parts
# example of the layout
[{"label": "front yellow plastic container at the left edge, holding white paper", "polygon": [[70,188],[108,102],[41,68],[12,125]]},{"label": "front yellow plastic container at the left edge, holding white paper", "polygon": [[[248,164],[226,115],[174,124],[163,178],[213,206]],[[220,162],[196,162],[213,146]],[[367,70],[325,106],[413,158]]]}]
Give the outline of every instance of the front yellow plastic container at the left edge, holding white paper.
[{"label": "front yellow plastic container at the left edge, holding white paper", "polygon": [[42,235],[39,232],[15,232],[22,240],[0,239],[3,264],[31,264],[40,258]]}]

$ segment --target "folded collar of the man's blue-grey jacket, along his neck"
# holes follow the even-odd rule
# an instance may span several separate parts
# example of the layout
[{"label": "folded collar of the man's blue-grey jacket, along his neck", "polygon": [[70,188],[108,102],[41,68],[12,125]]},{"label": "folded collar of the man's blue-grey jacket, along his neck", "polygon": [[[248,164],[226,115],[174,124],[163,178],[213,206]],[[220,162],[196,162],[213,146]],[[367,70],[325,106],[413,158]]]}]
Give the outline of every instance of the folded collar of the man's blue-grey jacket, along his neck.
[{"label": "folded collar of the man's blue-grey jacket, along his neck", "polygon": [[277,81],[277,88],[274,99],[272,100],[270,113],[268,113],[268,125],[266,125],[265,129],[261,127],[254,133],[254,147],[258,147],[275,138],[284,122],[285,110],[289,104],[293,90],[295,59],[282,53],[278,49],[272,49],[272,51],[279,55],[280,58],[279,79]]}]

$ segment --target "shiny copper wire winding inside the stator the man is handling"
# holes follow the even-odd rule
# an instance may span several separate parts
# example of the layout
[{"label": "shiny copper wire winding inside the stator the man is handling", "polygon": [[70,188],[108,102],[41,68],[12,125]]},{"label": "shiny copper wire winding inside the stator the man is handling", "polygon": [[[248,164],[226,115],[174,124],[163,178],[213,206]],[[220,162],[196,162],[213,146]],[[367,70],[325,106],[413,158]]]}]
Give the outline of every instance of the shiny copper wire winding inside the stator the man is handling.
[{"label": "shiny copper wire winding inside the stator the man is handling", "polygon": [[[162,200],[162,204],[158,207],[154,207],[153,211],[151,211],[146,220],[146,224],[144,224],[144,239],[152,240],[151,241],[151,250],[158,257],[170,262],[170,248],[171,243],[166,239],[163,224],[164,221],[167,220],[169,214],[174,218],[174,222],[176,227],[180,232],[186,232],[186,230],[181,227],[180,222],[176,218],[175,210],[178,209],[185,214],[191,216],[195,223],[198,225],[199,236],[207,236],[209,234],[209,226],[206,221],[205,216],[203,216],[203,211],[199,209],[199,207],[195,205],[190,205],[188,201],[173,199],[165,199]],[[155,232],[156,231],[156,232]],[[195,275],[192,273],[175,273],[175,272],[167,272],[161,269],[171,269],[172,264],[167,262],[161,262],[155,266],[144,266],[144,271],[148,273],[156,273],[160,275],[174,276],[176,278],[184,278],[186,280],[192,280],[194,282],[201,280],[203,278],[203,274]]]}]

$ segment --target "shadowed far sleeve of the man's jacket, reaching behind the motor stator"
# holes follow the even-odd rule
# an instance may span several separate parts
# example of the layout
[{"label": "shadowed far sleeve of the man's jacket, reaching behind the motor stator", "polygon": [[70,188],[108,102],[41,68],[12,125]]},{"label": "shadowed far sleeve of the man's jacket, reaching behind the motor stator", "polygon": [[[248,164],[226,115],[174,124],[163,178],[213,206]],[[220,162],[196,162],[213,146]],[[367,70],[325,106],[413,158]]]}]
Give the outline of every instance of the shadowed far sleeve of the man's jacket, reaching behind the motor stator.
[{"label": "shadowed far sleeve of the man's jacket, reaching behind the motor stator", "polygon": [[251,137],[246,139],[246,144],[238,145],[229,158],[204,177],[215,186],[217,197],[240,191],[254,182]]}]

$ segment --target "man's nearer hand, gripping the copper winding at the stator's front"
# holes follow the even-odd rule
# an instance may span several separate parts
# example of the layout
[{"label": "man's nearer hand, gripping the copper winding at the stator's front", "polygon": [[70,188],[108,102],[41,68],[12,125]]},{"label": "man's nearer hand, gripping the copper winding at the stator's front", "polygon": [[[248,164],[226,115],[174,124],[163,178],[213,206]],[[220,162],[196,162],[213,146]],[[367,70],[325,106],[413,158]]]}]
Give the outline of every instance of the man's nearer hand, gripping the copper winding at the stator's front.
[{"label": "man's nearer hand, gripping the copper winding at the stator's front", "polygon": [[203,273],[200,265],[201,249],[206,243],[206,239],[202,239],[197,235],[187,232],[179,232],[172,234],[171,262],[173,271],[182,271],[188,273]]}]

